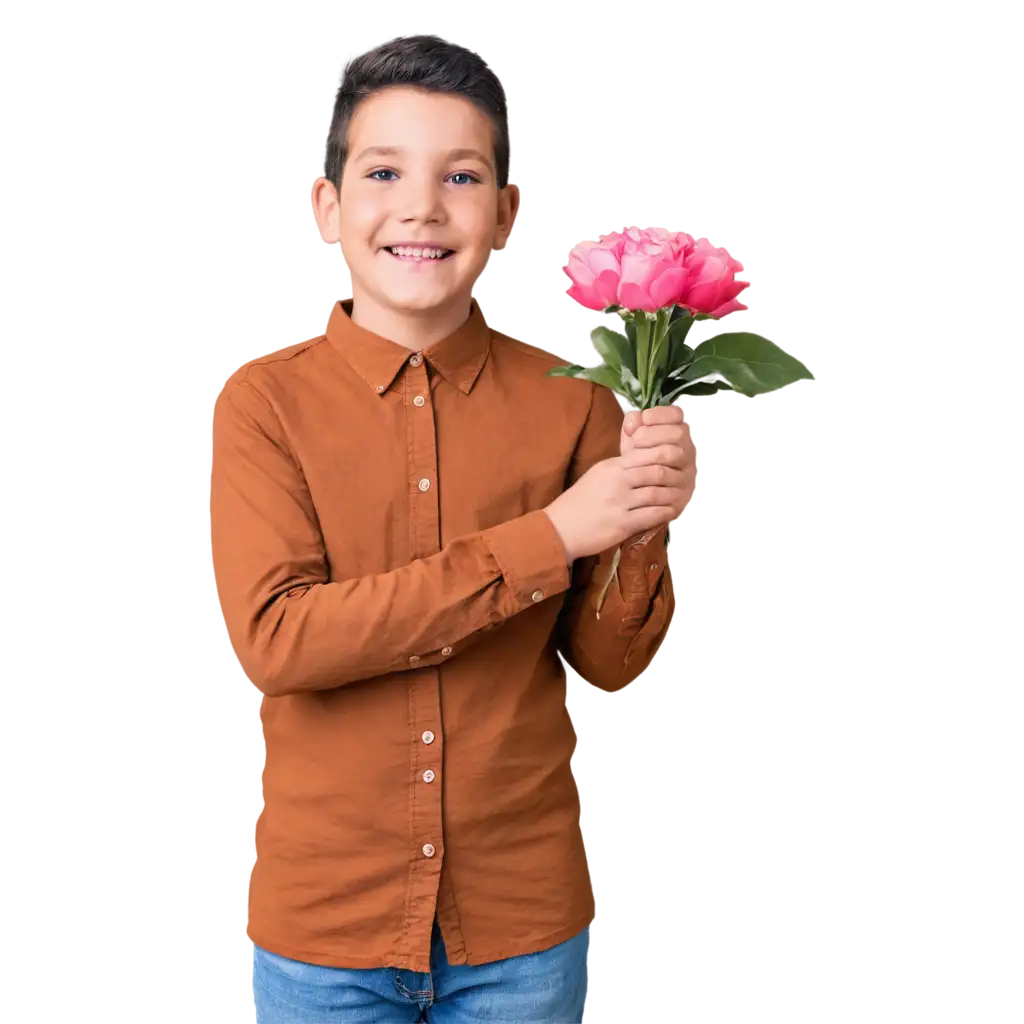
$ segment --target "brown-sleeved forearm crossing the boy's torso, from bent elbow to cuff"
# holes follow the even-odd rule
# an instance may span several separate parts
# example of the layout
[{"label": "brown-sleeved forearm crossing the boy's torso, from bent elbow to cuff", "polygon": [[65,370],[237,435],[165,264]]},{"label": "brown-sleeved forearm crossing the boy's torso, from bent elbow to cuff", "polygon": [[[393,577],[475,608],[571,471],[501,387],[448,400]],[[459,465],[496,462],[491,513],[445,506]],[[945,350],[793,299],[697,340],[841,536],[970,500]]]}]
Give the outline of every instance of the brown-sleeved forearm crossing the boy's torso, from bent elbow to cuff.
[{"label": "brown-sleeved forearm crossing the boy's torso, from bent elbow to cuff", "polygon": [[557,549],[545,552],[538,526],[536,516],[523,517],[355,580],[285,587],[282,566],[269,599],[259,589],[247,600],[222,588],[232,650],[249,680],[270,696],[449,660],[483,632],[566,588],[564,560]]}]

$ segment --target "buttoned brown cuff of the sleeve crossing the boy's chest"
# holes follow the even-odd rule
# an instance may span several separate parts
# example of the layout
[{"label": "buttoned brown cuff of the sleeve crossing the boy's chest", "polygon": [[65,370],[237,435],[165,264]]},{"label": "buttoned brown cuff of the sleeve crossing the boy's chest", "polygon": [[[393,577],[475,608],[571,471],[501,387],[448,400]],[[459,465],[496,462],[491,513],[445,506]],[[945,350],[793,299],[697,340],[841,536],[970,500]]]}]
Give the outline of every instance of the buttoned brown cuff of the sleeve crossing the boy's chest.
[{"label": "buttoned brown cuff of the sleeve crossing the boy's chest", "polygon": [[568,590],[565,548],[547,512],[529,512],[483,531],[517,610]]}]

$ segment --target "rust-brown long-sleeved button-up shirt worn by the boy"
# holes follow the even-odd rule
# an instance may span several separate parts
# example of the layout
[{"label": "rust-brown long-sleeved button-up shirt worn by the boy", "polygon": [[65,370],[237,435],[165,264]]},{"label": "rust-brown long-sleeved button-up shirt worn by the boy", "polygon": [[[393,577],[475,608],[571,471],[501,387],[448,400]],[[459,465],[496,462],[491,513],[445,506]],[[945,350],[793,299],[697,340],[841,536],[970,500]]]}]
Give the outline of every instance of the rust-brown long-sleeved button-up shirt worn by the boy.
[{"label": "rust-brown long-sleeved button-up shirt worn by the boy", "polygon": [[211,584],[260,694],[248,940],[328,967],[536,952],[590,920],[569,679],[628,681],[670,611],[665,534],[570,569],[543,511],[618,454],[617,399],[475,307],[414,353],[355,326],[232,368]]}]

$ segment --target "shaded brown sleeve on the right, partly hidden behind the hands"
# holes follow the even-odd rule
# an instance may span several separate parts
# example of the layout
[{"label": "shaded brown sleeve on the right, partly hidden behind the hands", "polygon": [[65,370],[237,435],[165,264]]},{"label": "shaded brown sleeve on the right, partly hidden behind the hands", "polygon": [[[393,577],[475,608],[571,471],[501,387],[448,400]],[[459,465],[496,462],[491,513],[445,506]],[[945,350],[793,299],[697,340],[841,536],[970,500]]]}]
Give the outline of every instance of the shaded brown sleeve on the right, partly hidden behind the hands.
[{"label": "shaded brown sleeve on the right, partly hidden behind the hands", "polygon": [[[587,425],[573,456],[570,480],[591,466],[618,455],[623,412],[607,388],[594,387]],[[580,559],[559,624],[563,657],[600,685],[629,683],[647,666],[672,612],[666,586],[666,530],[631,538],[623,545],[618,579],[598,601],[611,571],[614,551]]]}]

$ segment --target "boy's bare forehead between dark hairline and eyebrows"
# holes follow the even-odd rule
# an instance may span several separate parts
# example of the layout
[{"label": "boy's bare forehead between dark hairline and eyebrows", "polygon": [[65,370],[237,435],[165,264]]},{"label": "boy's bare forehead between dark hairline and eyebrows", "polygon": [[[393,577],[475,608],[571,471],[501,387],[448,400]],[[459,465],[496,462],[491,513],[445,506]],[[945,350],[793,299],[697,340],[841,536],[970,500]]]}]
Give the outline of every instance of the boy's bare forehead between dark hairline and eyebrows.
[{"label": "boy's bare forehead between dark hairline and eyebrows", "polygon": [[364,99],[349,121],[349,153],[358,159],[370,146],[488,154],[493,127],[487,115],[464,96],[393,86]]}]

